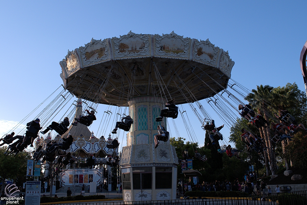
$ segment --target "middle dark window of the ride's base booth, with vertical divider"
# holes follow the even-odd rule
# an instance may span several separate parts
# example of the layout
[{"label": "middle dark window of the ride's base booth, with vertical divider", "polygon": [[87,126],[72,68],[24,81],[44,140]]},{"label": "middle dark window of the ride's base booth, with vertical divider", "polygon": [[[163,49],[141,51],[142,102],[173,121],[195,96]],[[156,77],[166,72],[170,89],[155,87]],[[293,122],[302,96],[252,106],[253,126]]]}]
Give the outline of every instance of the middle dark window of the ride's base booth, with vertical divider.
[{"label": "middle dark window of the ride's base booth, with vertical divider", "polygon": [[133,189],[152,188],[152,167],[132,168]]}]

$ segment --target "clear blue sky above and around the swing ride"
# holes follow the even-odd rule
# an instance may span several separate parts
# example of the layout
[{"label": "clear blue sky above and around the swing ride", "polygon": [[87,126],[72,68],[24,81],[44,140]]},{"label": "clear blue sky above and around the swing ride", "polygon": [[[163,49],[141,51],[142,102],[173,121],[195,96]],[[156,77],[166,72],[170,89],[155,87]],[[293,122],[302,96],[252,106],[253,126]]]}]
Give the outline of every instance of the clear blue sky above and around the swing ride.
[{"label": "clear blue sky above and around the swing ride", "polygon": [[[0,133],[63,83],[59,61],[68,49],[130,30],[209,38],[229,51],[231,77],[245,87],[296,82],[304,90],[299,56],[307,40],[305,8],[305,1],[2,1]],[[204,131],[193,129],[203,144]]]}]

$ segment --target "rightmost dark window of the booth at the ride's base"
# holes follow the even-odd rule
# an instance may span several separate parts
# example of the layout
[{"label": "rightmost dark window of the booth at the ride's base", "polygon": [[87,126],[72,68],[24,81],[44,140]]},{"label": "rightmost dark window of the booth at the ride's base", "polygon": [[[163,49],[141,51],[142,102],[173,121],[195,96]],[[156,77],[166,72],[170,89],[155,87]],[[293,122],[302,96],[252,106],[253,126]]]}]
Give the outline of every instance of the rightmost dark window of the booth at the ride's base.
[{"label": "rightmost dark window of the booth at the ride's base", "polygon": [[156,167],[156,189],[172,188],[172,168]]}]

